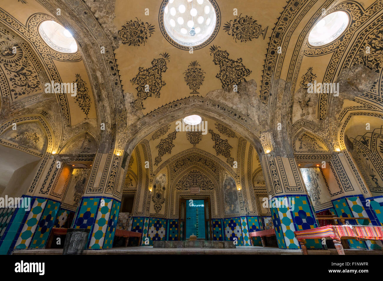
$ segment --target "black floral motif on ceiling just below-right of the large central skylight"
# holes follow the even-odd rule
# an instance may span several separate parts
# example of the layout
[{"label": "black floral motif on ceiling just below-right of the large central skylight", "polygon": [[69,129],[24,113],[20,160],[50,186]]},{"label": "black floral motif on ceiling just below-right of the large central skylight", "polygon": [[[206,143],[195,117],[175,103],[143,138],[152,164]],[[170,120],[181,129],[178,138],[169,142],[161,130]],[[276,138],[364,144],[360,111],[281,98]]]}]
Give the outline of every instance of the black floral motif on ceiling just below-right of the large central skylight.
[{"label": "black floral motif on ceiling just below-right of the large central skylight", "polygon": [[226,50],[219,49],[220,47],[213,45],[210,47],[210,55],[214,55],[214,64],[219,65],[219,73],[216,77],[221,80],[222,88],[246,82],[244,77],[249,76],[251,70],[243,65],[242,58],[232,60]]}]

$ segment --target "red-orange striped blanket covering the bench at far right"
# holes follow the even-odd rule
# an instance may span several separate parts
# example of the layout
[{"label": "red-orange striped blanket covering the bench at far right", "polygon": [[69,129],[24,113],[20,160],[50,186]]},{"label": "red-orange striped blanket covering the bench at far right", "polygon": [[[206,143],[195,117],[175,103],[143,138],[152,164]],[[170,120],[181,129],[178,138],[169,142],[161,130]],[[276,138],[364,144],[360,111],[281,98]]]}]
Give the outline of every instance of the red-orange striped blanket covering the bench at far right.
[{"label": "red-orange striped blanket covering the bench at far right", "polygon": [[294,231],[298,241],[303,239],[321,239],[323,237],[339,240],[342,237],[354,237],[368,240],[383,240],[382,226],[322,226],[313,229]]}]

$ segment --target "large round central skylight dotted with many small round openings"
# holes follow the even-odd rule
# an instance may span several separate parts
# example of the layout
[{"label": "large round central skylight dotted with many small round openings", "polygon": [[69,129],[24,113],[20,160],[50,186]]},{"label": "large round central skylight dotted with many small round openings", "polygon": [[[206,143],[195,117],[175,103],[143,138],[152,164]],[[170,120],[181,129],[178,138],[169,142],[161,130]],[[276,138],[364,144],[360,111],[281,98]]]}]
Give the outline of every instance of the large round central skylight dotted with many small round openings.
[{"label": "large round central skylight dotted with many small round openings", "polygon": [[160,24],[172,41],[181,46],[201,45],[218,32],[218,6],[214,0],[164,0],[161,9]]}]

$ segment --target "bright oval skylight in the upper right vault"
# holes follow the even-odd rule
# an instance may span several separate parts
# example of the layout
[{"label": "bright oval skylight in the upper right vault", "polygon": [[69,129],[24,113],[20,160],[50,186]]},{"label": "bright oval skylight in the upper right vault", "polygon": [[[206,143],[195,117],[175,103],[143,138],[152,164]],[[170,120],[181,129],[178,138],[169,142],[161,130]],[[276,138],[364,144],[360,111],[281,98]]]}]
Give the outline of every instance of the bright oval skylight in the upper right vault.
[{"label": "bright oval skylight in the upper right vault", "polygon": [[334,41],[345,31],[349,20],[349,16],[344,11],[335,11],[325,16],[311,29],[309,43],[317,47]]}]

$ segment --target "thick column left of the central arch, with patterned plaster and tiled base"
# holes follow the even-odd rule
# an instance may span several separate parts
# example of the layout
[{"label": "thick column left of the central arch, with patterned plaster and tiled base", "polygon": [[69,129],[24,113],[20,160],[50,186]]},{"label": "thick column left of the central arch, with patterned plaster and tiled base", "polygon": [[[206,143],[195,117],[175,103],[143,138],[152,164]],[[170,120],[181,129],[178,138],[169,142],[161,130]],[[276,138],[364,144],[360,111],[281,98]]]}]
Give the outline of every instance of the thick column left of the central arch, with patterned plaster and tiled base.
[{"label": "thick column left of the central arch, with patterned plaster and tiled base", "polygon": [[113,245],[127,159],[127,153],[116,149],[95,155],[86,191],[72,223],[73,228],[90,229],[88,249],[110,249]]}]

